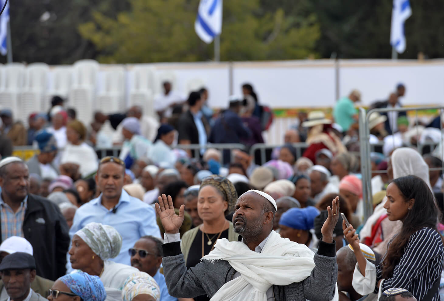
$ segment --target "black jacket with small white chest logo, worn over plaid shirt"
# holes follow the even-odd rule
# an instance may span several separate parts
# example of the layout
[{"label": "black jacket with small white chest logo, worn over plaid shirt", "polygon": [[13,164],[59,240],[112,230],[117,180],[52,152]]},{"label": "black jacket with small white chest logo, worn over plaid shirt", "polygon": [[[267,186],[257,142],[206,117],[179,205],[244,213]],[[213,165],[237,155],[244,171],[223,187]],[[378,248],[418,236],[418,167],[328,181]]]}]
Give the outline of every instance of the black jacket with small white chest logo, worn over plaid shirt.
[{"label": "black jacket with small white chest logo, worn over plaid shirt", "polygon": [[23,234],[34,249],[37,275],[40,277],[55,281],[66,273],[66,253],[70,243],[68,231],[65,218],[56,204],[28,194]]}]

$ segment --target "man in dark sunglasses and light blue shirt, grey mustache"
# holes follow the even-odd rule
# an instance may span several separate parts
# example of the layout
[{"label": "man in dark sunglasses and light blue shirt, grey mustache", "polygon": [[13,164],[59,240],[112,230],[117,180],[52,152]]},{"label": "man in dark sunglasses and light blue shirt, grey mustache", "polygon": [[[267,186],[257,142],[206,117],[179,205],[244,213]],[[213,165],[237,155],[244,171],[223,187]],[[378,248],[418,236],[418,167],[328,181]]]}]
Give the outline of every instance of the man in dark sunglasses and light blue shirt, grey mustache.
[{"label": "man in dark sunglasses and light blue shirt, grey mustache", "polygon": [[163,257],[162,245],[163,241],[153,236],[140,238],[134,247],[128,250],[131,266],[154,278],[160,288],[159,301],[177,301],[177,298],[171,297],[168,293],[165,276],[159,272]]}]

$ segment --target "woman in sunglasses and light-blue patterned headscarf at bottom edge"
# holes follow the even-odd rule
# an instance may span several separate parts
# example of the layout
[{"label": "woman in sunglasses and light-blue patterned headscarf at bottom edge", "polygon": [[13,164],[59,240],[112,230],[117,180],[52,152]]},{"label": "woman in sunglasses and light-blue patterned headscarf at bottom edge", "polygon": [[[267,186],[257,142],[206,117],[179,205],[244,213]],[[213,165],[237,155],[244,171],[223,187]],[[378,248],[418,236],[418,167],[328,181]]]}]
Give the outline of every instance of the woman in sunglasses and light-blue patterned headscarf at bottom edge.
[{"label": "woman in sunglasses and light-blue patterned headscarf at bottom edge", "polygon": [[105,301],[107,292],[99,277],[77,272],[60,277],[49,290],[49,301],[67,300],[66,297],[73,301]]}]

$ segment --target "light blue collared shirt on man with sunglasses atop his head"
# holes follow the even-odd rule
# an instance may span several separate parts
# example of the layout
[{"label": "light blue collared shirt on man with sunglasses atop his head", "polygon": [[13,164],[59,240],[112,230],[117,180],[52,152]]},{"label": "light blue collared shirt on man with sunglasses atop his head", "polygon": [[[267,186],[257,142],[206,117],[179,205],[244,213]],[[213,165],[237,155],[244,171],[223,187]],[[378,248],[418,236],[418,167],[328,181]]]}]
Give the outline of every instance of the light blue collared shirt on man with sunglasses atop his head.
[{"label": "light blue collared shirt on man with sunglasses atop his head", "polygon": [[90,222],[113,226],[122,235],[122,249],[117,257],[110,260],[129,265],[131,257],[128,249],[132,248],[139,238],[145,235],[161,237],[155,211],[153,207],[131,197],[123,189],[115,206],[115,213],[103,206],[101,200],[102,194],[77,209],[69,236],[72,240],[75,232]]}]

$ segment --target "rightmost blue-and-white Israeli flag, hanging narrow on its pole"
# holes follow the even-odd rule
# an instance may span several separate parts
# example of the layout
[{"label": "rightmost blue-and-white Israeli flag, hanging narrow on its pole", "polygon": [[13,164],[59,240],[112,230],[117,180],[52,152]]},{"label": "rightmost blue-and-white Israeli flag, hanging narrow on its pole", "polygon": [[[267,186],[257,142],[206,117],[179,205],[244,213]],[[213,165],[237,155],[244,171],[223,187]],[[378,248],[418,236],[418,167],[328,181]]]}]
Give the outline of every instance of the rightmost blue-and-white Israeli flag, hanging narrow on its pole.
[{"label": "rightmost blue-and-white Israeli flag, hanging narrow on its pole", "polygon": [[393,0],[390,44],[398,53],[403,53],[405,50],[404,23],[410,16],[412,16],[412,8],[408,0]]}]

